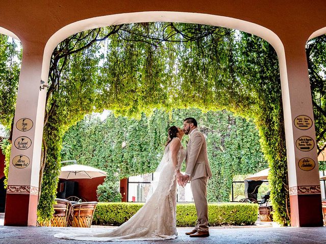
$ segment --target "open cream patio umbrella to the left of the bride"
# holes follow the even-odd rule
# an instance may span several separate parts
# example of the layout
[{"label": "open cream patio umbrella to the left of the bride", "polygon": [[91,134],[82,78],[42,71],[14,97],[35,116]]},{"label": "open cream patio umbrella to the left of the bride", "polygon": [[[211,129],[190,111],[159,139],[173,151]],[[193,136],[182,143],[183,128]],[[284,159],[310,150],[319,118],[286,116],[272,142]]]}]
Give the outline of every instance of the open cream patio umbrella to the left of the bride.
[{"label": "open cream patio umbrella to the left of the bride", "polygon": [[92,179],[106,176],[106,172],[86,165],[72,164],[61,167],[61,179]]}]

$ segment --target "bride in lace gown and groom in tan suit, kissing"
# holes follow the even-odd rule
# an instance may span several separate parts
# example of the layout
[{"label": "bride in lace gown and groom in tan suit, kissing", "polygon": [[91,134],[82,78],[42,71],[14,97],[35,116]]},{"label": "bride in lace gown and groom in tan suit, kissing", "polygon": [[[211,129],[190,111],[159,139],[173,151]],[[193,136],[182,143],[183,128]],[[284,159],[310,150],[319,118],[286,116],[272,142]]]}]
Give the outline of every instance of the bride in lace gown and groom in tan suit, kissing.
[{"label": "bride in lace gown and groom in tan suit, kissing", "polygon": [[[167,240],[177,238],[176,205],[177,184],[184,187],[190,181],[197,211],[194,229],[186,232],[191,237],[209,236],[207,181],[211,171],[204,135],[197,129],[193,117],[183,120],[183,129],[172,126],[164,155],[155,171],[158,181],[153,181],[146,203],[127,222],[113,230],[94,229],[55,234],[58,238],[93,241]],[[182,137],[189,136],[186,149]],[[185,161],[186,170],[180,172]]]}]

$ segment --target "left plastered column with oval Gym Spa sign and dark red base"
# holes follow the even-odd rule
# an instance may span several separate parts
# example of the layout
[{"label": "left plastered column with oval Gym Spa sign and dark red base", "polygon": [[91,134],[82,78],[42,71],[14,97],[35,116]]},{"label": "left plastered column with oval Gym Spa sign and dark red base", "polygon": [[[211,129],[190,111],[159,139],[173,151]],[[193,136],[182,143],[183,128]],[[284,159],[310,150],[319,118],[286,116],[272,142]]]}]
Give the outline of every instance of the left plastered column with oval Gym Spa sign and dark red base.
[{"label": "left plastered column with oval Gym Spa sign and dark red base", "polygon": [[44,45],[23,43],[5,209],[5,225],[35,226],[46,89]]}]

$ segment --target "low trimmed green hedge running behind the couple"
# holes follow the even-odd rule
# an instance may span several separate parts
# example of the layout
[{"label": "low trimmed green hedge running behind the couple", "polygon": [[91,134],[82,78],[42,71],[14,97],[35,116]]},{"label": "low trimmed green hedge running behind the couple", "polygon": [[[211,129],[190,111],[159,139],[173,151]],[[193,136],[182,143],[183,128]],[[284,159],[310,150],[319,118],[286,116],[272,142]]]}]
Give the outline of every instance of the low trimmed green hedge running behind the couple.
[{"label": "low trimmed green hedge running behind the couple", "polygon": [[[144,203],[100,202],[93,225],[121,225],[131,218]],[[257,221],[258,204],[252,203],[209,203],[210,226],[252,225]],[[195,226],[197,220],[195,204],[177,204],[177,226]]]}]

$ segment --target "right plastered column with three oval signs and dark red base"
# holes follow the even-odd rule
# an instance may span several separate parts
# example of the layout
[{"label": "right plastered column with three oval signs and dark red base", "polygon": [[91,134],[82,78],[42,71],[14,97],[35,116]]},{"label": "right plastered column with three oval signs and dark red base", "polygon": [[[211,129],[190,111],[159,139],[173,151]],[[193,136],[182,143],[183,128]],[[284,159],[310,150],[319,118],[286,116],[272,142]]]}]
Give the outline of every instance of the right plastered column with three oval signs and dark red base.
[{"label": "right plastered column with three oval signs and dark red base", "polygon": [[280,62],[291,226],[322,226],[316,137],[305,40],[284,44]]}]

